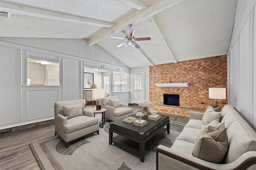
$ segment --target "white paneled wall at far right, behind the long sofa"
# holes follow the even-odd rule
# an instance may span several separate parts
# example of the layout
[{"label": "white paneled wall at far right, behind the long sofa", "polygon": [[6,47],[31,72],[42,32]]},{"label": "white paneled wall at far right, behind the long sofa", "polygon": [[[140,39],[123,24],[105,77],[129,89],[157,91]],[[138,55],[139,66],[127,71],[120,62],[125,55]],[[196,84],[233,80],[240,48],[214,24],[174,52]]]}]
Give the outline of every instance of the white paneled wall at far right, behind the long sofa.
[{"label": "white paneled wall at far right, behind the long sofa", "polygon": [[[256,0],[252,0],[245,14],[236,13],[236,18],[243,20],[234,41],[228,51],[228,103],[238,109],[250,123],[256,127]],[[237,6],[237,8],[242,8]],[[239,11],[239,10],[237,10]],[[234,37],[235,36],[235,37]]]}]

